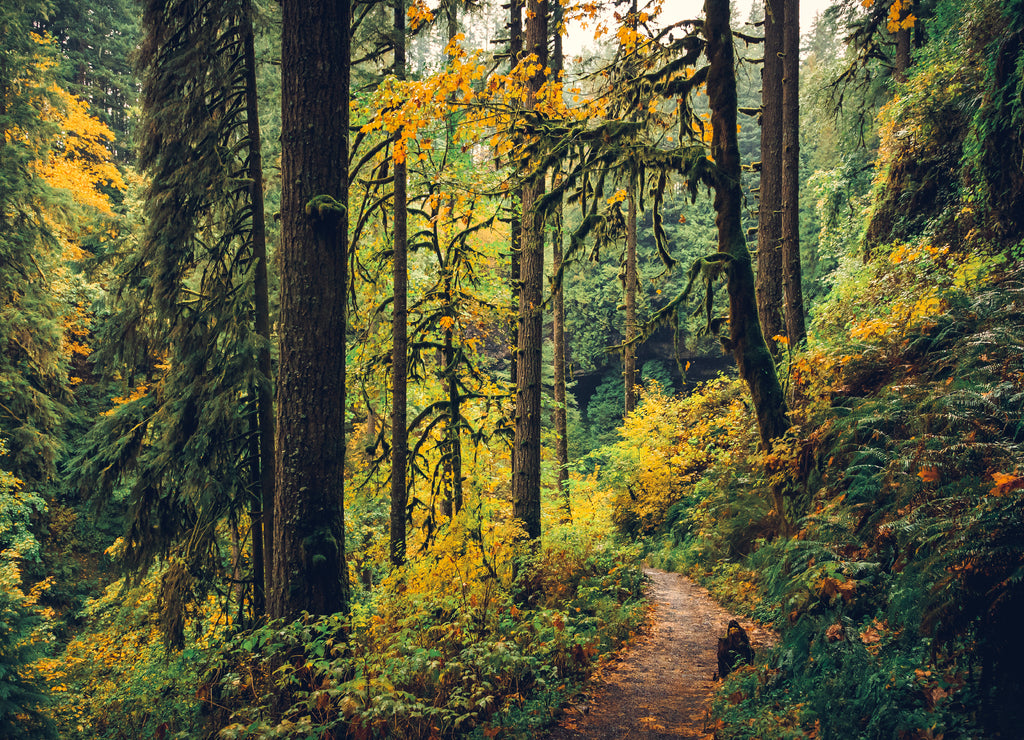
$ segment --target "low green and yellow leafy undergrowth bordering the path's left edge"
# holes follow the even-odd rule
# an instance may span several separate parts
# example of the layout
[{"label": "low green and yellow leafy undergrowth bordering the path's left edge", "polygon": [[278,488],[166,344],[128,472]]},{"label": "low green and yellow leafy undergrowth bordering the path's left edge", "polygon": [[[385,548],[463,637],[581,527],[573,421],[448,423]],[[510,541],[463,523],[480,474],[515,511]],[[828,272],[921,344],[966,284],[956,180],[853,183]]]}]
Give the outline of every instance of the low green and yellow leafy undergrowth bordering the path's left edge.
[{"label": "low green and yellow leafy undergrowth bordering the path's left edge", "polygon": [[[442,560],[487,555],[487,574],[413,584]],[[639,627],[643,576],[636,549],[593,540],[552,536],[532,556],[507,556],[466,542],[462,558],[396,573],[349,619],[239,634],[200,689],[209,736],[534,737]]]}]

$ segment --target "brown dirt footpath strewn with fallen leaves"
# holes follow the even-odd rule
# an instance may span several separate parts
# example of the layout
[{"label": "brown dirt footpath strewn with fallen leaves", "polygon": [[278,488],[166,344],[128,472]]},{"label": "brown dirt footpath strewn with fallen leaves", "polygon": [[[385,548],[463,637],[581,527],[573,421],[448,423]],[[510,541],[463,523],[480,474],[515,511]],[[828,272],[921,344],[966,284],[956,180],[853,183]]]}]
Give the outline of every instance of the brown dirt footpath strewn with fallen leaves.
[{"label": "brown dirt footpath strewn with fallen leaves", "polygon": [[644,568],[650,614],[565,708],[552,740],[712,738],[708,702],[715,688],[718,638],[738,619],[755,652],[775,635],[723,609],[706,589],[678,573]]}]

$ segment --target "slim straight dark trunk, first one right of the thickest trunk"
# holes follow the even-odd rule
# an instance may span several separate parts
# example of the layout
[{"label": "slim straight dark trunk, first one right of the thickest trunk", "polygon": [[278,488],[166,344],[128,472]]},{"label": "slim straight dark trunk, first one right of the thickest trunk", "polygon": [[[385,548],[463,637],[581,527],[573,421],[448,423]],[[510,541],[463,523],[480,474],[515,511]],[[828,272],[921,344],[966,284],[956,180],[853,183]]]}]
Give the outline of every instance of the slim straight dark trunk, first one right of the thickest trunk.
[{"label": "slim straight dark trunk, first one right of the thickest trunk", "polygon": [[[406,0],[394,0],[394,75],[406,79]],[[409,456],[407,386],[409,329],[409,254],[407,182],[404,161],[394,162],[394,302],[391,312],[391,564],[406,562],[406,509],[409,489],[406,469]]]}]

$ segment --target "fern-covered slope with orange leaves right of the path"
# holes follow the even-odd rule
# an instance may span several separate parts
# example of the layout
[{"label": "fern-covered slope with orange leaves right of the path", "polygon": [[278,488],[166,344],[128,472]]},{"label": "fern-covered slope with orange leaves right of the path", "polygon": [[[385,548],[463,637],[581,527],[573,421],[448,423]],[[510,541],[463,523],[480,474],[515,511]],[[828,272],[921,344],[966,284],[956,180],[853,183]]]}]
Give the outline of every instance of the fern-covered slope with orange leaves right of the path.
[{"label": "fern-covered slope with orange leaves right of the path", "polygon": [[[801,412],[771,453],[751,433],[703,440],[715,456],[699,481],[664,492],[648,558],[781,632],[719,691],[720,738],[1012,737],[1024,689],[1024,271],[950,289],[933,314],[885,331],[859,325],[794,357]],[[699,431],[688,409],[721,387],[645,400]],[[715,404],[717,424],[738,428],[729,408]],[[670,460],[683,448],[678,435],[660,443]],[[770,510],[780,487],[781,517]]]}]

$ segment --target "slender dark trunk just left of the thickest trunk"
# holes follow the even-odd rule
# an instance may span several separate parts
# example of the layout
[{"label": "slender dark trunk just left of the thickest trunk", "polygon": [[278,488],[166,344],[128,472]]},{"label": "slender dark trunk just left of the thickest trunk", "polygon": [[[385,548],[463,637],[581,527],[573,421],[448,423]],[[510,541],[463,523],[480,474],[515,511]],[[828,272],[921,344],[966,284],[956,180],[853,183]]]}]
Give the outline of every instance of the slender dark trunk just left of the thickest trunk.
[{"label": "slender dark trunk just left of the thickest trunk", "polygon": [[256,557],[256,540],[261,539],[261,577],[255,590],[254,602],[257,614],[263,614],[265,594],[270,589],[266,582],[273,573],[273,368],[270,364],[270,291],[267,286],[266,217],[263,206],[263,155],[262,137],[259,128],[259,103],[256,91],[256,47],[253,33],[252,3],[246,4],[243,34],[245,35],[246,63],[246,119],[249,136],[249,180],[250,201],[253,209],[252,241],[254,265],[254,307],[256,310],[256,334],[260,347],[256,351],[256,363],[261,376],[256,388],[256,422],[259,429],[259,490],[260,507],[258,521],[253,520],[253,558]]}]

